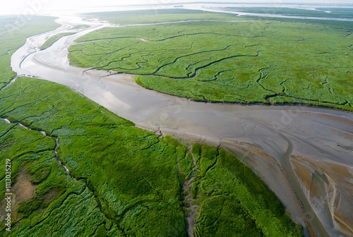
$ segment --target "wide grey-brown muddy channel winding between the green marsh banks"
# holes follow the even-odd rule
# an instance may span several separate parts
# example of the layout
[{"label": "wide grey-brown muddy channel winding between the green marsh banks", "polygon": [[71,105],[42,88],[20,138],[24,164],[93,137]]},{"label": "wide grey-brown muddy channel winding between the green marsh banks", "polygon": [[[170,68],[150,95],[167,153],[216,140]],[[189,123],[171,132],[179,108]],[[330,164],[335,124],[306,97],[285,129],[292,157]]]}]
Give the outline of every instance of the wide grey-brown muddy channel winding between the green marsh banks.
[{"label": "wide grey-brown muddy channel winding between the green marsh banks", "polygon": [[[352,169],[352,113],[308,107],[200,103],[145,90],[136,85],[132,75],[109,75],[69,65],[68,45],[81,35],[109,26],[108,23],[85,22],[71,16],[59,19],[59,23],[63,25],[61,28],[30,37],[13,54],[14,71],[67,85],[142,128],[222,145],[229,150],[246,150],[241,159],[268,183],[294,219],[304,225],[309,216],[321,236],[342,234],[337,224],[325,221],[325,217],[332,216],[329,208],[324,209],[325,213],[313,208],[308,191],[299,182],[289,159],[294,154],[314,157]],[[38,50],[50,35],[67,31],[76,24],[91,27],[72,30],[75,35],[61,38],[44,51]],[[324,185],[320,179],[314,183]],[[349,205],[345,208],[352,209]]]}]

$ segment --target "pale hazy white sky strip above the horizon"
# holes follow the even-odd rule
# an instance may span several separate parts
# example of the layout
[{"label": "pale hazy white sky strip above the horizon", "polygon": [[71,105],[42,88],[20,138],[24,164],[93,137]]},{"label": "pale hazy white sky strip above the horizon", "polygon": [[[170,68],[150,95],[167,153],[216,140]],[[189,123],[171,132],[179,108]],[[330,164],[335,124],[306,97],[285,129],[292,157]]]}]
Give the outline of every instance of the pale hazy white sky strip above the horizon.
[{"label": "pale hazy white sky strip above the horizon", "polygon": [[[20,14],[20,15],[30,15],[33,12],[40,13],[43,11],[52,11],[52,10],[64,10],[64,9],[75,9],[75,8],[86,8],[90,6],[119,6],[126,4],[172,4],[179,2],[196,2],[197,0],[126,0],[126,1],[117,1],[117,0],[2,0],[0,3],[0,14]],[[203,0],[203,2],[208,0]],[[229,3],[265,3],[270,2],[279,6],[280,4],[286,4],[289,2],[306,2],[308,3],[343,3],[343,4],[352,4],[352,0],[238,0],[238,1],[229,1],[229,0],[211,0],[210,2],[229,2]]]}]

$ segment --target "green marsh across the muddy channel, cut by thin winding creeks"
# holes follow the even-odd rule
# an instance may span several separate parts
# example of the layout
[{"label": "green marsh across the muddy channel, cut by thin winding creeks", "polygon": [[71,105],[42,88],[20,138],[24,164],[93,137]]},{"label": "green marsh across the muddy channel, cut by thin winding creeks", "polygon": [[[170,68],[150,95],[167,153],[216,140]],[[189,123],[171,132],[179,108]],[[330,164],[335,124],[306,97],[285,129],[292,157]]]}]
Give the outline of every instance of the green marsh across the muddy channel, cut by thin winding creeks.
[{"label": "green marsh across the muddy channel, cut by thin winding creeks", "polygon": [[[112,14],[97,16],[119,23],[122,16],[112,20]],[[144,14],[131,23],[157,22],[152,12]],[[97,30],[71,45],[69,59],[75,66],[139,75],[136,82],[148,89],[197,101],[352,111],[352,22],[337,21],[334,28],[311,20],[187,14],[178,17],[189,22]],[[197,18],[208,21],[192,21]]]}]

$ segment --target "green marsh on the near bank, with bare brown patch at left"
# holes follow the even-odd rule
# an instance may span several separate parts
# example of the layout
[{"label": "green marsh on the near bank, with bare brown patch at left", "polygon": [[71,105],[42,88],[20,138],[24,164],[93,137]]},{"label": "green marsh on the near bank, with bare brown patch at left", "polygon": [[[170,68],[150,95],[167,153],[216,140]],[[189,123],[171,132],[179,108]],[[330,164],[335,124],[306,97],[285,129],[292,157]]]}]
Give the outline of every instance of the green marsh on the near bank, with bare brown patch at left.
[{"label": "green marsh on the near bank, with bare brown patch at left", "polygon": [[[1,236],[187,236],[188,192],[200,206],[196,235],[302,235],[234,154],[136,128],[62,85],[25,77],[9,84],[11,52],[57,26],[44,22],[29,21],[11,42],[0,38],[9,51],[1,56],[8,73],[1,75],[0,166],[11,159],[15,197],[13,227],[6,231],[1,217]],[[1,169],[1,187],[4,177]],[[1,208],[3,197],[0,190]]]}]

